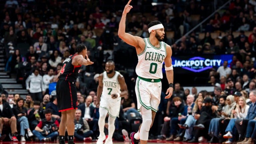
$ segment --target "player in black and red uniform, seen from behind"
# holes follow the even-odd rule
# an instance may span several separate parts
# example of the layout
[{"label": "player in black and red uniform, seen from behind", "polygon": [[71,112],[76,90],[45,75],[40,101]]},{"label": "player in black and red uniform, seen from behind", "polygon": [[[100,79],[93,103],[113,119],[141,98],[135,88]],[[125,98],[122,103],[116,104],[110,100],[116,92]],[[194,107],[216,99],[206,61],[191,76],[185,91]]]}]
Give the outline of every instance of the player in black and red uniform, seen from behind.
[{"label": "player in black and red uniform, seen from behind", "polygon": [[[85,59],[85,57],[87,59]],[[77,109],[76,79],[82,65],[91,65],[93,62],[87,56],[87,48],[83,44],[76,46],[76,54],[70,55],[62,64],[56,85],[57,102],[61,121],[59,126],[59,143],[65,144],[66,127],[68,144],[74,143],[75,112]]]}]

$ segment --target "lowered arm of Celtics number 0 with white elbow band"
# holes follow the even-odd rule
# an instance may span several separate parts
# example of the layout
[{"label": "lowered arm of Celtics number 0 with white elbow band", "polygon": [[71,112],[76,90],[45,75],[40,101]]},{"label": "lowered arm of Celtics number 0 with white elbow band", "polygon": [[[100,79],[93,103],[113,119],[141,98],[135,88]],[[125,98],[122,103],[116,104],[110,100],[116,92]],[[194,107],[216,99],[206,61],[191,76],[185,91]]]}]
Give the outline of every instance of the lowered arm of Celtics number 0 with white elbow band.
[{"label": "lowered arm of Celtics number 0 with white elbow band", "polygon": [[166,77],[169,83],[169,88],[166,91],[166,94],[168,94],[165,98],[168,99],[172,96],[173,92],[173,66],[172,66],[172,48],[169,45],[166,45],[166,53],[167,56],[164,59],[165,63],[165,71],[166,71]]}]

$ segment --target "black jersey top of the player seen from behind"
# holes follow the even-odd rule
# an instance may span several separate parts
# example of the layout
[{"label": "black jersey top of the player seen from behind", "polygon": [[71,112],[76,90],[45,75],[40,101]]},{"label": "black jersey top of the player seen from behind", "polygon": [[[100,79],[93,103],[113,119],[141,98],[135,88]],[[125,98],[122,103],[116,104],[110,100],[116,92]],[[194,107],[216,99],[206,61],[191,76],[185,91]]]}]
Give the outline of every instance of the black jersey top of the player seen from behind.
[{"label": "black jersey top of the player seen from behind", "polygon": [[72,59],[77,56],[77,54],[70,55],[62,64],[62,69],[60,70],[60,76],[58,77],[61,80],[76,82],[78,74],[80,72],[81,66],[72,65]]}]

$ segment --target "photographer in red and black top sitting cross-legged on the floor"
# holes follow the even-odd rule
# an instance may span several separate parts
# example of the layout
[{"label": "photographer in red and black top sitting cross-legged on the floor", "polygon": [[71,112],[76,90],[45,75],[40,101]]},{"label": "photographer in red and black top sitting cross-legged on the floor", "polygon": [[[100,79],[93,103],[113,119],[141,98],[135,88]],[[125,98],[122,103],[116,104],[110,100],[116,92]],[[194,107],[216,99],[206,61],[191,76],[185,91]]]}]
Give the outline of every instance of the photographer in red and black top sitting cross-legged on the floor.
[{"label": "photographer in red and black top sitting cross-legged on the floor", "polygon": [[44,114],[45,119],[42,119],[33,130],[33,134],[37,137],[35,141],[52,141],[59,135],[59,122],[52,117],[52,110],[45,109]]}]

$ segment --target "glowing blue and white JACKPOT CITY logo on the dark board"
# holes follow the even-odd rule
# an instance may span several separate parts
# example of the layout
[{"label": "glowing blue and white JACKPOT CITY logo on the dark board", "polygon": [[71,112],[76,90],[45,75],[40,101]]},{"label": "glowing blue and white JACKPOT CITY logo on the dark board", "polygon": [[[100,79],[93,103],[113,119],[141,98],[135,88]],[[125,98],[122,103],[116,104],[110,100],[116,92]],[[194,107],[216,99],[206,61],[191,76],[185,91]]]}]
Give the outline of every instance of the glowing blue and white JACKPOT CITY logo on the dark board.
[{"label": "glowing blue and white JACKPOT CITY logo on the dark board", "polygon": [[193,57],[189,60],[174,60],[173,67],[181,67],[192,72],[201,72],[210,69],[213,66],[221,66],[221,61],[221,59]]}]

